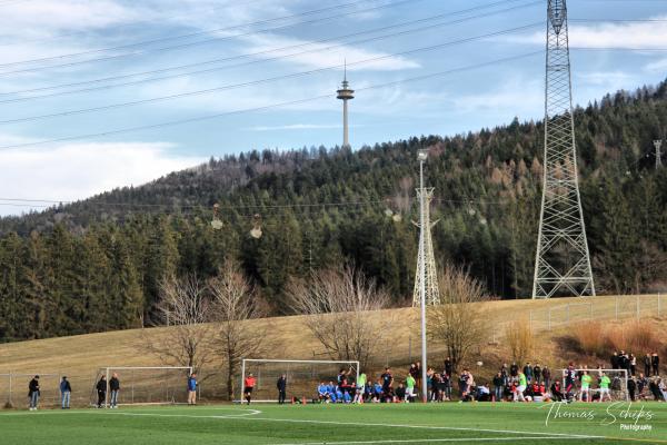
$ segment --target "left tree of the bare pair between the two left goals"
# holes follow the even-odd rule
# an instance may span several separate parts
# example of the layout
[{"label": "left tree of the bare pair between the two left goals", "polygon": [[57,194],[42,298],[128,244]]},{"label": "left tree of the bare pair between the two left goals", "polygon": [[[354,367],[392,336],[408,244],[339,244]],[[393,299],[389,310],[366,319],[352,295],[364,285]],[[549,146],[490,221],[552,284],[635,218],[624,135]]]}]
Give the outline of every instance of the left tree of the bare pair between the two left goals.
[{"label": "left tree of the bare pair between the two left goals", "polygon": [[197,276],[165,278],[160,284],[158,310],[170,326],[161,332],[143,332],[145,349],[165,364],[200,369],[211,360],[215,330],[209,322],[210,298]]}]

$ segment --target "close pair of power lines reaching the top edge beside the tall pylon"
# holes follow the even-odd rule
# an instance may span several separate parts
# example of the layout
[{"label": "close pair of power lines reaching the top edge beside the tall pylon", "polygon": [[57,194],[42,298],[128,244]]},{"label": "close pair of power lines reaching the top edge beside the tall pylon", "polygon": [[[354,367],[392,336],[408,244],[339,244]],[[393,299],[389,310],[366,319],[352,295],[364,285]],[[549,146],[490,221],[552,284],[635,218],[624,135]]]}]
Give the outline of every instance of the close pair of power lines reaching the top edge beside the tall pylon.
[{"label": "close pair of power lines reaching the top edge beside the tall pylon", "polygon": [[[504,4],[504,3],[505,3],[505,1],[499,1],[499,2],[495,2],[495,3],[490,3],[489,6],[486,6],[484,8],[489,8],[489,7],[494,7],[494,6],[498,6],[498,4]],[[456,24],[456,23],[460,23],[460,22],[467,21],[467,20],[479,19],[479,18],[489,17],[489,16],[497,14],[497,13],[505,13],[505,12],[508,12],[508,11],[511,11],[511,10],[527,8],[527,7],[537,6],[537,4],[541,4],[541,1],[531,1],[531,2],[526,3],[526,4],[520,4],[520,6],[517,6],[517,7],[506,8],[506,9],[502,9],[502,10],[491,11],[491,12],[487,12],[487,13],[482,13],[482,14],[466,17],[466,18],[458,19],[458,20],[452,20],[452,21],[447,21],[447,22],[437,22],[437,23],[432,23],[431,27],[434,27],[434,26],[442,26],[442,24]],[[385,31],[385,30],[388,30],[388,29],[402,28],[402,27],[406,27],[406,26],[417,24],[417,23],[422,23],[422,22],[430,22],[430,21],[438,20],[438,19],[445,18],[445,17],[448,17],[448,16],[458,16],[458,14],[462,14],[462,13],[467,13],[467,12],[472,12],[472,11],[479,10],[479,9],[480,9],[480,7],[475,7],[475,8],[468,8],[468,9],[459,10],[459,11],[445,12],[445,13],[440,13],[440,14],[436,14],[436,16],[431,16],[431,17],[426,17],[426,18],[421,18],[421,19],[408,20],[408,21],[395,23],[395,24],[391,24],[391,26],[385,26],[385,27],[374,28],[374,29],[370,29],[370,30],[367,30],[367,31],[359,31],[359,32],[352,32],[352,33],[345,34],[345,36],[338,36],[338,37],[330,37],[330,38],[325,38],[325,39],[318,39],[318,40],[308,41],[306,43],[299,43],[299,44],[292,44],[292,46],[281,47],[281,48],[275,48],[275,49],[265,50],[265,51],[258,51],[258,52],[251,52],[251,53],[245,53],[245,55],[237,55],[237,56],[225,57],[225,58],[217,58],[217,59],[207,60],[207,61],[197,62],[197,63],[188,63],[188,65],[182,65],[182,66],[176,66],[176,67],[170,67],[170,68],[162,68],[162,69],[157,69],[157,70],[142,71],[142,72],[135,72],[135,73],[128,73],[128,75],[111,76],[111,77],[92,79],[92,80],[86,80],[86,81],[79,81],[79,82],[62,83],[62,85],[56,85],[56,86],[49,86],[49,87],[39,87],[39,88],[32,88],[32,89],[19,90],[19,91],[0,92],[0,96],[22,95],[22,93],[27,93],[27,92],[37,92],[37,91],[44,91],[44,90],[51,90],[51,89],[60,89],[60,88],[68,88],[68,87],[77,87],[77,86],[84,86],[84,85],[101,83],[101,82],[106,82],[106,81],[127,79],[127,78],[137,77],[137,76],[155,75],[155,73],[160,73],[160,72],[179,70],[179,69],[183,69],[183,68],[200,67],[200,66],[211,65],[211,63],[218,63],[218,62],[222,62],[222,61],[230,61],[230,60],[236,60],[236,59],[245,59],[245,58],[250,58],[250,57],[256,57],[256,56],[270,55],[270,53],[275,53],[275,52],[282,52],[282,51],[289,50],[289,49],[303,48],[303,47],[308,47],[308,46],[312,46],[312,44],[317,44],[317,43],[325,43],[325,42],[329,42],[329,41],[336,41],[336,40],[339,40],[339,39],[347,39],[347,38],[350,38],[350,37],[364,36],[364,34],[368,34],[368,33],[375,33],[375,32]],[[418,31],[424,30],[424,29],[425,28],[418,28],[418,29],[415,29],[415,30],[412,30],[410,32],[418,32]],[[428,29],[430,29],[430,27]],[[357,43],[362,43],[362,42],[379,40],[379,39],[384,39],[384,38],[390,38],[390,37],[394,37],[394,36],[396,36],[396,34],[392,33],[392,34],[386,34],[386,36],[381,36],[381,37],[370,38],[370,39],[347,41],[347,42],[342,42],[342,43],[339,43],[339,44],[336,44],[336,46],[327,47],[326,49],[331,49],[331,48],[337,48],[337,47],[344,47],[344,46],[348,46],[348,44],[357,44]],[[296,57],[296,56],[300,56],[300,55],[305,55],[305,53],[309,53],[309,52],[313,52],[313,51],[320,51],[320,50],[321,49],[318,48],[318,49],[313,49],[313,50],[309,50],[309,51],[302,51],[302,52],[297,52],[297,53],[278,56],[278,57],[268,58],[268,59],[252,60],[252,61],[245,62],[245,63],[237,63],[237,65],[230,65],[230,66],[223,66],[223,67],[213,67],[213,68],[208,68],[208,69],[205,69],[205,70],[189,71],[189,72],[182,72],[182,73],[175,73],[175,75],[162,76],[162,77],[157,77],[157,78],[149,78],[149,79],[140,79],[140,80],[135,80],[135,81],[129,81],[129,82],[122,82],[122,83],[113,83],[113,85],[99,86],[99,87],[92,87],[92,88],[83,88],[83,89],[76,89],[76,90],[69,90],[69,91],[59,91],[59,92],[53,92],[53,93],[49,93],[49,95],[40,95],[40,96],[30,96],[30,97],[14,98],[14,99],[9,99],[7,101],[32,100],[32,99],[49,98],[49,97],[61,96],[61,95],[71,95],[71,93],[78,93],[78,92],[94,91],[94,90],[100,90],[100,89],[108,89],[108,88],[125,87],[125,86],[139,85],[139,83],[146,83],[146,82],[153,82],[153,81],[160,81],[160,80],[165,80],[165,79],[172,79],[172,78],[178,78],[178,77],[192,76],[192,75],[199,75],[199,73],[206,73],[206,72],[213,72],[213,71],[218,71],[218,70],[226,70],[226,69],[230,69],[230,68],[238,68],[238,67],[248,66],[248,65],[252,65],[252,63],[263,63],[263,62],[268,62],[268,61],[280,60],[280,59],[283,59],[283,58],[291,58],[291,57]],[[4,101],[0,100],[0,103],[2,103],[2,102],[4,102]]]}]

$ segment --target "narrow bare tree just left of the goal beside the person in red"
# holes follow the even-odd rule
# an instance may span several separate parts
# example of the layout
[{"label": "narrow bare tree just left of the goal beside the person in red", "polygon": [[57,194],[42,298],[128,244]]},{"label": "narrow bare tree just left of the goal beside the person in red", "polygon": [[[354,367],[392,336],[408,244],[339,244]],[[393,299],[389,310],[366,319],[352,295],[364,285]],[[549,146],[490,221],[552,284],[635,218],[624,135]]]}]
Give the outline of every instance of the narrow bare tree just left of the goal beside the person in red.
[{"label": "narrow bare tree just left of the goal beside the person in red", "polygon": [[209,281],[216,318],[216,349],[227,368],[227,395],[233,398],[233,376],[242,358],[263,354],[268,349],[266,330],[248,320],[262,316],[257,294],[231,261]]}]

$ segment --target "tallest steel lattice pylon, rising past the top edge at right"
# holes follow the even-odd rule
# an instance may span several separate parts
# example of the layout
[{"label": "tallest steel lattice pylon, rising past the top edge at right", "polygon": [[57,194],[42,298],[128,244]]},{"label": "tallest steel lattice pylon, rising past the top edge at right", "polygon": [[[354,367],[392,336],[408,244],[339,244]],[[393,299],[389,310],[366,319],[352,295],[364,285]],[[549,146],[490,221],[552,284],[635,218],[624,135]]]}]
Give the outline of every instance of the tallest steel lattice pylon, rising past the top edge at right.
[{"label": "tallest steel lattice pylon, rising past the top edge at right", "polygon": [[579,182],[566,0],[548,0],[542,200],[532,298],[595,295]]}]

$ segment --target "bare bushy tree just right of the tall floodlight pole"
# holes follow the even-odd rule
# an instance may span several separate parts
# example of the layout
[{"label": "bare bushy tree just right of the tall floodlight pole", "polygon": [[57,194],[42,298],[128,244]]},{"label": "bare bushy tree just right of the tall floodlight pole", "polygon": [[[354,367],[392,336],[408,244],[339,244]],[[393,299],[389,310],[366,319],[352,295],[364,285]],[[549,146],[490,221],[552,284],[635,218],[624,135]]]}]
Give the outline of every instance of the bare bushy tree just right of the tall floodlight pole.
[{"label": "bare bushy tree just right of the tall floodlight pole", "polygon": [[484,286],[461,267],[446,266],[438,275],[440,301],[428,310],[429,337],[442,343],[454,370],[481,345],[488,333],[488,319],[481,305],[488,299]]}]

